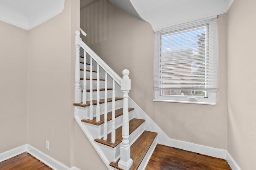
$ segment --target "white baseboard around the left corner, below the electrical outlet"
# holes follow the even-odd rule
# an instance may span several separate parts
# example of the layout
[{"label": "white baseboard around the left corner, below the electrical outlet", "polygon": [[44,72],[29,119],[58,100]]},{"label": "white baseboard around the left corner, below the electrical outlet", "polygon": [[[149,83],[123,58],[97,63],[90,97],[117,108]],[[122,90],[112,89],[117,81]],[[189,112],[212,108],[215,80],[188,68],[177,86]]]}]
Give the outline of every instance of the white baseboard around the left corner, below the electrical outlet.
[{"label": "white baseboard around the left corner, below the electrical outlet", "polygon": [[29,154],[31,154],[32,156],[34,156],[35,158],[37,158],[38,160],[40,160],[41,162],[43,162],[44,164],[46,164],[47,166],[54,170],[80,170],[75,166],[73,166],[72,168],[68,168],[64,164],[58,162],[57,160],[51,158],[47,154],[44,154],[43,152],[32,147],[29,144],[22,145],[21,147],[17,147],[6,152],[0,153],[0,162],[12,158],[16,155],[19,155],[23,152],[28,152]]}]

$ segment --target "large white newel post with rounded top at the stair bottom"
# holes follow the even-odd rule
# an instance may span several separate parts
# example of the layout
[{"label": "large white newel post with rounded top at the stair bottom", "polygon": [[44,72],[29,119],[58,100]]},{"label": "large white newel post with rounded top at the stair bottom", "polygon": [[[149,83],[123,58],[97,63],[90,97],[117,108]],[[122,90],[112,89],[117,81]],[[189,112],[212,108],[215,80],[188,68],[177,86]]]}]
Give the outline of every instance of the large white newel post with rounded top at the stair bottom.
[{"label": "large white newel post with rounded top at the stair bottom", "polygon": [[122,146],[120,148],[120,161],[118,166],[124,170],[128,170],[132,166],[131,151],[129,144],[129,116],[128,116],[128,93],[131,90],[131,80],[128,77],[129,70],[123,70],[123,78],[121,80],[121,90],[124,93],[123,106],[123,128],[122,128]]}]

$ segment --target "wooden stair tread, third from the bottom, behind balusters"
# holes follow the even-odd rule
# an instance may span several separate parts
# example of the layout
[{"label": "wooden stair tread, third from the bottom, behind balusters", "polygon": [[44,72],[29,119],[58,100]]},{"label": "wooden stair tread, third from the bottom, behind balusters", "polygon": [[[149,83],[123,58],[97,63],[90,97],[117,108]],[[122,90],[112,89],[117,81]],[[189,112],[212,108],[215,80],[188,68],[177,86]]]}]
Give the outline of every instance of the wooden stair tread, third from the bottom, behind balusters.
[{"label": "wooden stair tread, third from the bottom, behind balusters", "polygon": [[[132,111],[134,108],[129,108],[128,111]],[[123,114],[123,108],[115,110],[115,117],[119,117]],[[112,111],[107,113],[107,121],[112,120]],[[90,119],[82,119],[82,122],[90,123],[93,125],[102,125],[104,123],[104,114],[100,115],[100,121],[96,121],[96,117],[94,117],[92,120]]]}]

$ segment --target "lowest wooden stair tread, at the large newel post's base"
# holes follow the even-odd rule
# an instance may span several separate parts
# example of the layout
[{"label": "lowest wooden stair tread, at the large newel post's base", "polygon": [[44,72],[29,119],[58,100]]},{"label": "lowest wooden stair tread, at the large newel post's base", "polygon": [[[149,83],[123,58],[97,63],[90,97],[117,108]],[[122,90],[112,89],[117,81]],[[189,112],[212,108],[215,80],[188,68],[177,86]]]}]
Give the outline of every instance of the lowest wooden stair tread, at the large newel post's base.
[{"label": "lowest wooden stair tread, at the large newel post's base", "polygon": [[[133,160],[132,166],[129,170],[137,170],[142,162],[143,158],[145,157],[146,153],[148,152],[150,146],[152,145],[154,139],[156,138],[157,133],[144,131],[140,137],[132,144],[131,146],[131,159]],[[120,159],[119,159],[120,160]],[[118,161],[119,161],[118,160]],[[110,166],[118,169],[123,170],[122,168],[118,167],[118,161],[111,162]]]}]

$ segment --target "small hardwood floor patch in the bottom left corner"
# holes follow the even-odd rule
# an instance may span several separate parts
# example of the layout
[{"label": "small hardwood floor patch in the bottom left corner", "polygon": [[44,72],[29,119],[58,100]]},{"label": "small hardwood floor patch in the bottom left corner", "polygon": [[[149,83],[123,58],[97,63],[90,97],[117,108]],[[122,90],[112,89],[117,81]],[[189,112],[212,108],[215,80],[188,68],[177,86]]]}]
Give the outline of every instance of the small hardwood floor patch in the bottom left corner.
[{"label": "small hardwood floor patch in the bottom left corner", "polygon": [[0,162],[0,170],[51,170],[34,156],[24,152],[13,158]]}]

